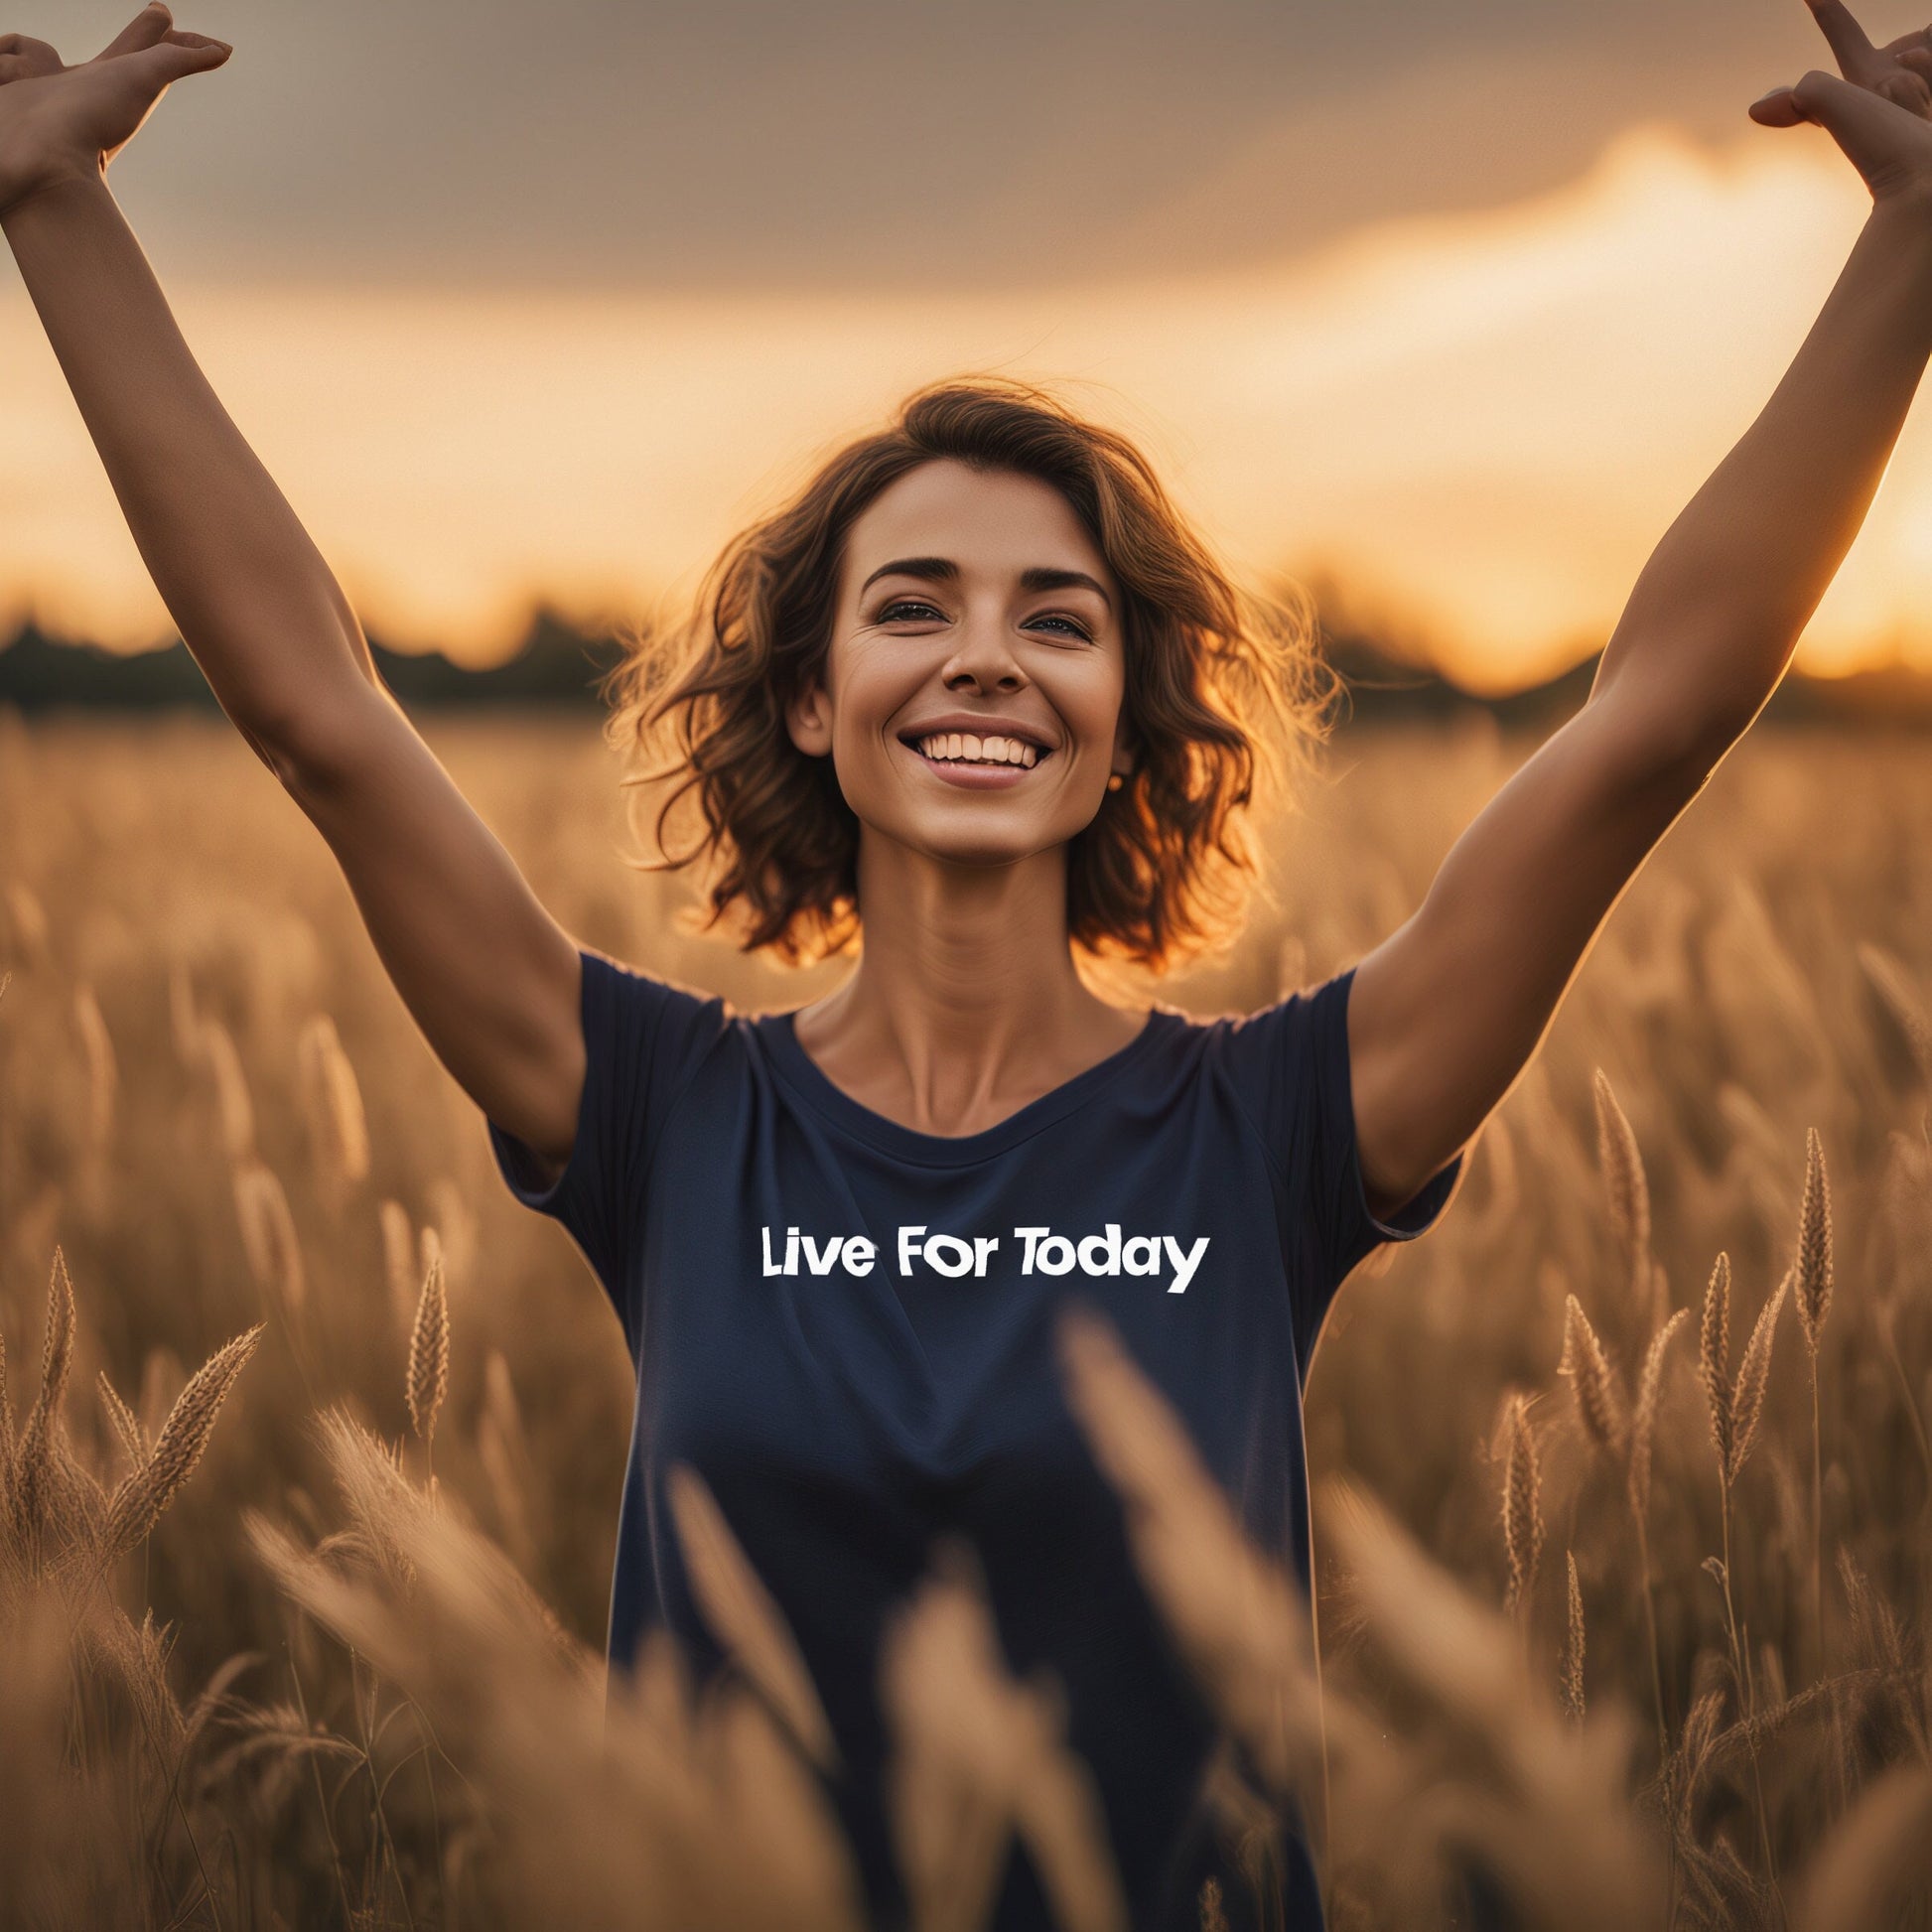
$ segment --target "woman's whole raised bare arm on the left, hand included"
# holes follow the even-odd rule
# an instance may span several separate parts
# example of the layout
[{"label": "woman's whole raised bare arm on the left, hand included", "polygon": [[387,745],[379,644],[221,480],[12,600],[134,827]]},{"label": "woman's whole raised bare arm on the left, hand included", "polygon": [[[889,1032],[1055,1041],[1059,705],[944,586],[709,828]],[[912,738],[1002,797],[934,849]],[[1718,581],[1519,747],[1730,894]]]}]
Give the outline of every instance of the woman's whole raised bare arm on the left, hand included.
[{"label": "woman's whole raised bare arm on the left, hand included", "polygon": [[222,709],[328,840],[458,1084],[562,1165],[578,951],[383,688],[355,612],[174,325],[106,185],[166,87],[228,48],[149,6],[95,60],[0,35],[0,230],[141,558]]}]

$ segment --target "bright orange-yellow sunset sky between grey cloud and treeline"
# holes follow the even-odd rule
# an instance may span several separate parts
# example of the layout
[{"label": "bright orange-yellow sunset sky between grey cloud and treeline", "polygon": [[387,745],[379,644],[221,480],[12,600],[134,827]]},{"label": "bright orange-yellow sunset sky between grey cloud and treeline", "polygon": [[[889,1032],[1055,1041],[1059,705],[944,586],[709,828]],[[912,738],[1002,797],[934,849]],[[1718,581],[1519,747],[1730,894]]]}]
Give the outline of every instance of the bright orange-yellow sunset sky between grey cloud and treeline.
[{"label": "bright orange-yellow sunset sky between grey cloud and treeline", "polygon": [[[1236,570],[1329,570],[1478,690],[1604,643],[1743,435],[1868,207],[1828,143],[1667,129],[1476,216],[1238,276],[1024,299],[172,288],[216,390],[371,632],[491,663],[533,601],[622,620],[833,442],[964,369],[1124,429]],[[166,274],[166,265],[162,265]],[[23,294],[0,305],[0,620],[172,636]],[[1932,668],[1913,421],[1799,663]]]}]

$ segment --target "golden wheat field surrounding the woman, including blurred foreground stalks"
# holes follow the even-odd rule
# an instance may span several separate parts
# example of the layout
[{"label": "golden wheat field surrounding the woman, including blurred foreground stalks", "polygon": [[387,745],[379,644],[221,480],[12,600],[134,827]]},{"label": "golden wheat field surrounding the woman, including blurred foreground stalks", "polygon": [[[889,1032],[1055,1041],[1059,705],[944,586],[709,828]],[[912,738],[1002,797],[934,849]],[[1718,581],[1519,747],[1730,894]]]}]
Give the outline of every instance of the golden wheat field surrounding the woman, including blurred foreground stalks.
[{"label": "golden wheat field surrounding the woman, including blurred foreground stalks", "polygon": [[[837,976],[682,929],[595,723],[427,736],[578,939],[746,1007]],[[1530,750],[1347,730],[1159,997],[1347,964]],[[0,715],[0,1924],[858,1926],[823,1712],[696,1476],[736,1669],[699,1696],[653,1644],[607,1714],[618,1325],[234,732]],[[1932,1926],[1928,1014],[1922,742],[1747,740],[1441,1227],[1329,1318],[1314,1629],[1113,1333],[1063,1329],[1260,1774],[1215,1806],[1300,1803],[1337,1928]],[[1065,1926],[1122,1926],[970,1559],[881,1667],[922,1932],[985,1920],[1014,1837]]]}]

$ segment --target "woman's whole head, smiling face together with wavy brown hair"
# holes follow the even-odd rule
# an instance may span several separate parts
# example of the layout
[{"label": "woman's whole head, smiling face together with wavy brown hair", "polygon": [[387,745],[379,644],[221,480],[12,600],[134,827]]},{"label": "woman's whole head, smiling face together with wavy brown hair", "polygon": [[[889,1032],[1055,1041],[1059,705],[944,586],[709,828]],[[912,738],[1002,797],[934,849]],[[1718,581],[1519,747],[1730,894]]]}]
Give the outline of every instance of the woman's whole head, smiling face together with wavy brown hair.
[{"label": "woman's whole head, smiling face together with wavy brown hair", "polygon": [[[935,531],[964,541],[923,554]],[[742,531],[682,626],[634,639],[611,736],[641,757],[628,782],[670,781],[657,842],[711,862],[713,922],[748,949],[856,947],[860,900],[898,889],[860,883],[904,844],[866,850],[885,811],[956,860],[1051,854],[1074,945],[1159,970],[1238,923],[1240,808],[1287,790],[1337,688],[1312,628],[1229,580],[1124,437],[1032,384],[949,381]],[[947,811],[949,790],[999,811]]]}]

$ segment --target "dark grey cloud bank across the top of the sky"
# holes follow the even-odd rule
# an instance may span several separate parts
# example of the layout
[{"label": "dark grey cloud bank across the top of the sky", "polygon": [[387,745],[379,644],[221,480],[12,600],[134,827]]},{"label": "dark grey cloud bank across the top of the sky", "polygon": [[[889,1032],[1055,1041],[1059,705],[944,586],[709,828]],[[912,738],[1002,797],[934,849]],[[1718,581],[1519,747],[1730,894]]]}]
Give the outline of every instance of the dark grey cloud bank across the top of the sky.
[{"label": "dark grey cloud bank across the top of the sky", "polygon": [[[70,60],[129,0],[15,0]],[[234,58],[116,160],[203,278],[1037,286],[1285,261],[1735,133],[1799,0],[180,0]],[[1760,131],[1760,139],[1774,139]],[[0,257],[0,276],[12,267]]]}]

